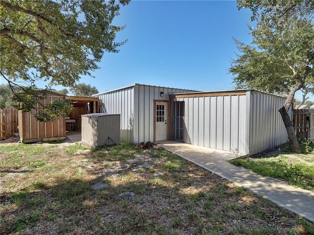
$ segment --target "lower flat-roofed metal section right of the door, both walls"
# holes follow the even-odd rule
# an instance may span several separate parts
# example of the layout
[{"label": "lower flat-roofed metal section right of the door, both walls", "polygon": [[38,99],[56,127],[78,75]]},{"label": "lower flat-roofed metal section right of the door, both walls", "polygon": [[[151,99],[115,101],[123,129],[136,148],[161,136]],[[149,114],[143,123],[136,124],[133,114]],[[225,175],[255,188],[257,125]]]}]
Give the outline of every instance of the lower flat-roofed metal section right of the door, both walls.
[{"label": "lower flat-roofed metal section right of the door, both walls", "polygon": [[287,141],[278,112],[283,97],[254,90],[177,96],[185,106],[186,143],[252,155]]}]

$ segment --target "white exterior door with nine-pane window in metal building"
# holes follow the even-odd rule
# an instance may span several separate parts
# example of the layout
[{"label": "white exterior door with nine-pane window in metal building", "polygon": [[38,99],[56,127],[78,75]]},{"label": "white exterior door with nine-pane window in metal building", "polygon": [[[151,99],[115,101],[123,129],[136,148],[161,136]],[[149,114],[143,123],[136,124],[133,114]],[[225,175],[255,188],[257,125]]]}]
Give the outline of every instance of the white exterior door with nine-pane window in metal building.
[{"label": "white exterior door with nine-pane window in metal building", "polygon": [[167,102],[157,101],[155,106],[156,141],[167,140]]}]

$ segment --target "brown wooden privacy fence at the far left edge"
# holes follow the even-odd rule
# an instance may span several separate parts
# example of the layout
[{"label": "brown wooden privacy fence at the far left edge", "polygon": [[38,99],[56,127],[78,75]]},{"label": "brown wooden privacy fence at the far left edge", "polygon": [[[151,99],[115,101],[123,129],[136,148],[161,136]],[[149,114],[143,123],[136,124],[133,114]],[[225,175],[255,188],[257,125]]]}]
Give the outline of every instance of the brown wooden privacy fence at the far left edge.
[{"label": "brown wooden privacy fence at the far left edge", "polygon": [[18,110],[5,108],[0,110],[1,114],[1,140],[14,137],[18,133]]}]

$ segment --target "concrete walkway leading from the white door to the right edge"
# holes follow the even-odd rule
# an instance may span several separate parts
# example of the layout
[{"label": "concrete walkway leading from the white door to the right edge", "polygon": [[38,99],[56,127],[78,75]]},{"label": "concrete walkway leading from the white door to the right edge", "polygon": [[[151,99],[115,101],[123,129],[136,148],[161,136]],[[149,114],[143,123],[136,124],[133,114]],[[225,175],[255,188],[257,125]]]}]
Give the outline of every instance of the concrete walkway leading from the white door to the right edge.
[{"label": "concrete walkway leading from the white door to the right edge", "polygon": [[158,141],[157,144],[314,222],[313,192],[294,188],[283,181],[260,176],[243,167],[232,165],[227,161],[236,157],[233,152],[174,141]]}]

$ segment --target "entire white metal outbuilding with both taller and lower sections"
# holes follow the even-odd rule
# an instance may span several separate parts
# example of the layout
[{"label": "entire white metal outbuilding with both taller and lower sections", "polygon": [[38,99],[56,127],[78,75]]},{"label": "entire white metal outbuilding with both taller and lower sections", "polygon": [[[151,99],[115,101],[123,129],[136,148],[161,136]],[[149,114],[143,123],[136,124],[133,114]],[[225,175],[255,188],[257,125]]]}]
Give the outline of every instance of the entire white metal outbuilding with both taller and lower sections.
[{"label": "entire white metal outbuilding with both taller and lower sections", "polygon": [[[177,140],[253,155],[288,141],[285,98],[256,90],[196,92],[141,84],[95,94],[121,114],[121,140]],[[289,111],[289,115],[292,112]]]}]

